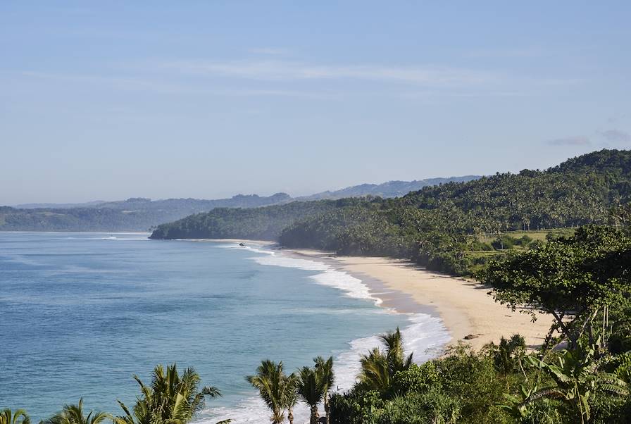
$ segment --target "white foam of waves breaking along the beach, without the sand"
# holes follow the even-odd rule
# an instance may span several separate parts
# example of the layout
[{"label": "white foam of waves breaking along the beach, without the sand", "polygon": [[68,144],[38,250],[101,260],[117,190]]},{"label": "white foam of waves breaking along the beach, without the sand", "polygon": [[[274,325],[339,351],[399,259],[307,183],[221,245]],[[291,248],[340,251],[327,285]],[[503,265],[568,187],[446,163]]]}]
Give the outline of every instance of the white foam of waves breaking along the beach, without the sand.
[{"label": "white foam of waves breaking along the beach, without the sand", "polygon": [[[335,268],[326,263],[294,258],[270,249],[242,247],[238,244],[222,244],[219,247],[225,249],[249,249],[256,253],[265,254],[265,256],[252,258],[261,265],[321,271],[311,277],[318,284],[335,287],[342,290],[349,297],[373,301],[375,305],[379,305],[382,302],[382,299],[370,293],[368,286],[360,279],[343,271],[335,270]],[[396,313],[396,311],[386,308],[382,308],[379,311],[382,313]],[[408,317],[409,325],[401,330],[401,333],[404,338],[405,350],[413,352],[413,361],[415,363],[423,363],[441,354],[442,348],[451,339],[442,320],[427,313],[407,313],[405,315]],[[335,389],[337,392],[345,392],[354,386],[361,370],[361,355],[367,354],[368,351],[375,347],[383,347],[379,335],[354,339],[349,342],[349,349],[333,352]],[[218,420],[231,419],[232,424],[263,423],[267,422],[268,416],[270,416],[269,409],[260,398],[253,396],[244,399],[235,406],[215,407],[206,410],[204,418],[197,420],[197,422],[200,424],[214,424]],[[309,411],[306,405],[296,405],[294,422],[296,424],[309,422]]]}]

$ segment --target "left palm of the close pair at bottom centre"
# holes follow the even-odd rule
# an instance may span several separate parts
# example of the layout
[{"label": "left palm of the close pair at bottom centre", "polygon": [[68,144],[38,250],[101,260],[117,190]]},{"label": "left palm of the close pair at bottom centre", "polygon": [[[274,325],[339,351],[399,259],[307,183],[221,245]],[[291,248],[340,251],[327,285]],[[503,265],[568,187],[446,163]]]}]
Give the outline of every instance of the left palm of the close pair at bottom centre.
[{"label": "left palm of the close pair at bottom centre", "polygon": [[[274,424],[280,424],[285,420],[285,409],[293,409],[296,404],[296,378],[289,377],[282,370],[282,362],[275,363],[269,359],[261,361],[256,368],[256,375],[248,375],[246,381],[258,389],[258,394],[272,411],[270,420]],[[292,409],[290,413],[293,418]]]}]

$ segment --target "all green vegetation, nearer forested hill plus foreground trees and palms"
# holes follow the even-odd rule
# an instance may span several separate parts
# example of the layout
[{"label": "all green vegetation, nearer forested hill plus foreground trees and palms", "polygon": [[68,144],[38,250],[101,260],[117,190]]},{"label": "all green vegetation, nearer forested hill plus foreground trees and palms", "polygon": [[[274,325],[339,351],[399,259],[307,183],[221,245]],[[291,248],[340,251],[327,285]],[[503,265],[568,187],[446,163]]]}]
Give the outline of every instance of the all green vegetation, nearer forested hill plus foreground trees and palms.
[{"label": "all green vegetation, nearer forested hill plus foreground trees and palms", "polygon": [[[599,151],[546,171],[427,187],[400,199],[216,209],[161,225],[152,237],[280,237],[290,247],[473,270],[496,301],[533,320],[554,318],[542,347],[512,335],[477,352],[458,344],[422,365],[396,329],[382,335],[381,349],[361,356],[358,382],[345,393],[331,394],[332,358],[289,375],[282,362],[262,361],[246,379],[273,423],[292,423],[298,401],[310,407],[313,424],[321,404],[331,424],[629,423],[630,175],[631,152]],[[219,395],[213,387],[199,391],[199,375],[179,375],[175,365],[156,367],[151,386],[136,380],[141,395],[132,410],[120,404],[115,424],[187,424],[204,396]],[[85,416],[80,401],[49,422],[98,424],[101,416]],[[0,424],[28,424],[28,417],[5,409]]]}]

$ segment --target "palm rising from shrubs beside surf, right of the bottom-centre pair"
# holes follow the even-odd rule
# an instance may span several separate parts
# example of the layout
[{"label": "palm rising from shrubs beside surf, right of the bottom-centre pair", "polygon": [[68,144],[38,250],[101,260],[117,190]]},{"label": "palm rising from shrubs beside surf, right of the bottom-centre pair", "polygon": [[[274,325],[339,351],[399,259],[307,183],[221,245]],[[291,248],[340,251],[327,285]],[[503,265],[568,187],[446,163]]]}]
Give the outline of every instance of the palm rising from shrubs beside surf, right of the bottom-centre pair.
[{"label": "palm rising from shrubs beside surf, right of the bottom-centre pair", "polygon": [[394,374],[410,368],[412,354],[405,356],[403,337],[398,327],[394,332],[381,335],[380,339],[385,350],[375,347],[368,355],[361,356],[359,381],[370,390],[385,393],[392,385]]}]

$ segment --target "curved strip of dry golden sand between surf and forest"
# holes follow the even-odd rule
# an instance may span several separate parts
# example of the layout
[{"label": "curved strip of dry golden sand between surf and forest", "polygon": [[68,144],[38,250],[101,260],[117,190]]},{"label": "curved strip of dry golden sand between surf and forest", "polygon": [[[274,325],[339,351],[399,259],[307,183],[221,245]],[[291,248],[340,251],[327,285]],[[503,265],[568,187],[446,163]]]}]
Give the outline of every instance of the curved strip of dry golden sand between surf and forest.
[{"label": "curved strip of dry golden sand between surf and forest", "polygon": [[[532,323],[530,315],[496,303],[487,294],[490,289],[485,285],[432,273],[409,261],[335,256],[301,249],[283,249],[283,252],[331,261],[336,268],[366,282],[384,300],[383,306],[400,312],[437,313],[451,334],[450,344],[462,340],[480,349],[489,342],[499,342],[502,336],[519,333],[528,347],[537,347],[552,323],[542,314],[537,314],[537,321]],[[465,339],[467,336],[473,338]]]}]

